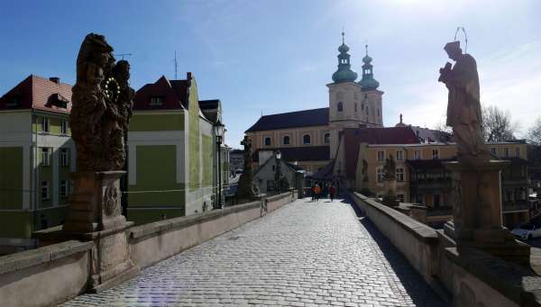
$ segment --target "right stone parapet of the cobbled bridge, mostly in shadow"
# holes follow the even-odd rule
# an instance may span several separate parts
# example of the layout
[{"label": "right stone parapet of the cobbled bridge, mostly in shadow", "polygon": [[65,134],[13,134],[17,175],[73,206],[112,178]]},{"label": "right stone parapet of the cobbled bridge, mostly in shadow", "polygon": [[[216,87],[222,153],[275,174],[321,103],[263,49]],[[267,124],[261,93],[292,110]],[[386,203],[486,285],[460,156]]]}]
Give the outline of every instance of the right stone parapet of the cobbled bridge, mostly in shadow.
[{"label": "right stone parapet of the cobbled bridge, mostly in shadow", "polygon": [[362,194],[353,203],[454,306],[541,306],[541,277],[476,248],[457,251],[453,239]]}]

